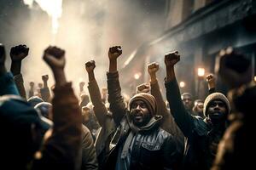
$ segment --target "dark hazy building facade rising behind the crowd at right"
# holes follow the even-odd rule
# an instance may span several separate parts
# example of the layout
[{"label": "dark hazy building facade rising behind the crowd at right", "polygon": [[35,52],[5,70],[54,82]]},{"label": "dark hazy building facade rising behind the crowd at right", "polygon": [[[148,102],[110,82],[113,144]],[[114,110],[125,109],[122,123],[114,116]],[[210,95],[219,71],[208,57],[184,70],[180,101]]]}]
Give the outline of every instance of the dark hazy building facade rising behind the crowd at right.
[{"label": "dark hazy building facade rising behind the crowd at right", "polygon": [[[255,65],[256,2],[253,0],[172,0],[166,17],[166,31],[151,42],[145,42],[123,66],[122,74],[132,70],[140,72],[137,84],[148,81],[146,65],[160,63],[159,79],[164,80],[164,55],[178,50],[181,61],[176,66],[177,81],[185,82],[181,91],[187,91],[204,99],[206,82],[198,78],[197,68],[205,68],[206,74],[214,73],[215,59],[219,51],[229,46],[247,55]],[[140,64],[137,64],[140,63]],[[143,63],[143,65],[141,64]],[[255,66],[253,66],[255,75]],[[218,77],[217,77],[218,78]],[[252,77],[253,78],[253,77]],[[125,83],[134,82],[131,77]],[[201,83],[201,88],[198,88]],[[162,89],[163,83],[160,83]],[[134,87],[132,87],[134,88]],[[218,91],[226,93],[226,87],[218,81]]]}]

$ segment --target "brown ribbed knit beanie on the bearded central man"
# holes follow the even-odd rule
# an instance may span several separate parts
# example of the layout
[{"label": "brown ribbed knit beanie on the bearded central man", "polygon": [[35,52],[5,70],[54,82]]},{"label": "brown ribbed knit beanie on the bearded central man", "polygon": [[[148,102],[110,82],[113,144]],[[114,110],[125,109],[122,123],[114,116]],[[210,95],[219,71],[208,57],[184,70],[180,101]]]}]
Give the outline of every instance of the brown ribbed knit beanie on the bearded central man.
[{"label": "brown ribbed knit beanie on the bearded central man", "polygon": [[155,116],[157,113],[157,105],[154,96],[151,94],[141,93],[134,95],[129,102],[128,110],[131,111],[131,104],[136,100],[142,100],[147,105],[148,111],[152,116]]}]

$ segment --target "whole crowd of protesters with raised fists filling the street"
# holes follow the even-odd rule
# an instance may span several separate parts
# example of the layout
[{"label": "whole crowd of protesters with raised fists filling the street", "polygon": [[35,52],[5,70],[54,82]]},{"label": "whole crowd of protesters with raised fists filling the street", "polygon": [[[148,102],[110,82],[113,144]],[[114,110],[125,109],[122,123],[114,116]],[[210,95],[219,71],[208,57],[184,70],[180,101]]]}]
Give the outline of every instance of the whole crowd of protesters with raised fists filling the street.
[{"label": "whole crowd of protesters with raised fists filling the street", "polygon": [[[193,99],[180,93],[175,65],[177,51],[163,56],[166,99],[160,90],[158,63],[148,64],[150,80],[137,86],[130,99],[122,96],[118,59],[122,48],[109,48],[108,88],[100,90],[96,61],[84,61],[88,91],[79,84],[79,98],[67,82],[65,50],[49,46],[43,59],[53,72],[35,90],[24,86],[22,59],[26,45],[11,48],[10,71],[0,44],[1,163],[5,169],[185,169],[224,170],[253,166],[253,104],[256,104],[252,64],[232,48],[218,54],[218,75],[208,75],[208,96]],[[215,87],[219,76],[230,90]],[[54,94],[54,95],[51,95]],[[194,100],[194,101],[193,101]]]}]

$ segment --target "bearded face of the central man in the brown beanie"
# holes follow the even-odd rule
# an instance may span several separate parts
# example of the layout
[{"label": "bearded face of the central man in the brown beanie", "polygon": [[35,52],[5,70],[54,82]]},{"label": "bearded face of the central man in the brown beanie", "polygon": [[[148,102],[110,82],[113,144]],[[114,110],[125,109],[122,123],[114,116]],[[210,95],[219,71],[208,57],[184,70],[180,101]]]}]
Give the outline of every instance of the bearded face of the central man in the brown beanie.
[{"label": "bearded face of the central man in the brown beanie", "polygon": [[142,100],[135,100],[131,103],[131,119],[137,127],[146,125],[151,117],[145,102]]}]

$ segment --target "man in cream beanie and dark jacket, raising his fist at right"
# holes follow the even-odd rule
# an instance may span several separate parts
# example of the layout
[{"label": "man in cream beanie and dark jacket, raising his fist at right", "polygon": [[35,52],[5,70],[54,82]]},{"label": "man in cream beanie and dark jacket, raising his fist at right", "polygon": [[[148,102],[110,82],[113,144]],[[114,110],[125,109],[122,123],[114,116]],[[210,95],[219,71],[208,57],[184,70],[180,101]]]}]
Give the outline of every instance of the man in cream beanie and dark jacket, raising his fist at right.
[{"label": "man in cream beanie and dark jacket, raising his fist at right", "polygon": [[218,143],[226,129],[230,113],[230,102],[224,94],[213,93],[207,96],[203,113],[206,116],[192,116],[185,109],[174,65],[179,61],[178,52],[166,54],[166,98],[170,103],[172,116],[186,137],[183,169],[210,169],[218,148]]}]

